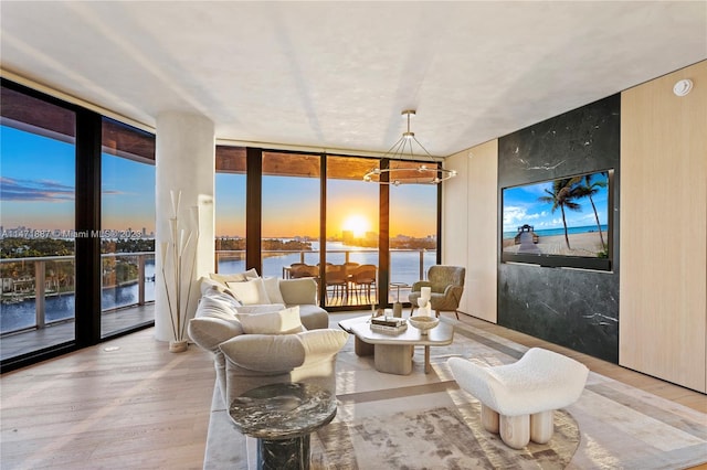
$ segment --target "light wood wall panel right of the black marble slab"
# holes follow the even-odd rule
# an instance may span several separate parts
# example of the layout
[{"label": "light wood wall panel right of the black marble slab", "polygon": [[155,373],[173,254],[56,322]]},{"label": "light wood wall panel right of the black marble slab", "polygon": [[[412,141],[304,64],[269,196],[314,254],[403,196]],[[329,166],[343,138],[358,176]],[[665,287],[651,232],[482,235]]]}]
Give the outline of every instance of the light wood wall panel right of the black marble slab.
[{"label": "light wood wall panel right of the black marble slab", "polygon": [[621,114],[619,363],[707,392],[707,62],[624,92]]}]

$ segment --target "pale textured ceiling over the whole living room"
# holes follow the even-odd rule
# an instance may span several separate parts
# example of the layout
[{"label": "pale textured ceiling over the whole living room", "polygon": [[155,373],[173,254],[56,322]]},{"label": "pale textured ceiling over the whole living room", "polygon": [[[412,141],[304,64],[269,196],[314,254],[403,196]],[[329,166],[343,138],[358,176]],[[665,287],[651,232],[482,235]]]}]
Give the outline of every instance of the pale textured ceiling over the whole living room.
[{"label": "pale textured ceiling over the whole living room", "polygon": [[446,157],[707,58],[706,1],[0,2],[3,75],[147,127]]}]

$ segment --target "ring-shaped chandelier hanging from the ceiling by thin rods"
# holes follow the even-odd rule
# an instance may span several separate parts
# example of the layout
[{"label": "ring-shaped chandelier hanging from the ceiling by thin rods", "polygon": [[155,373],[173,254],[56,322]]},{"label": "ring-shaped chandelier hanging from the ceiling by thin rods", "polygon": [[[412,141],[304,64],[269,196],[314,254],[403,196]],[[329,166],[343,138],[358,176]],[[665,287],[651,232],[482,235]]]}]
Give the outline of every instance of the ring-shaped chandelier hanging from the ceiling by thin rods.
[{"label": "ring-shaped chandelier hanging from the ceiling by thin rods", "polygon": [[[384,159],[389,159],[389,168],[370,169],[363,175],[363,181],[399,186],[401,184],[440,184],[456,177],[456,171],[442,168],[415,138],[415,133],[410,131],[410,117],[415,115],[414,109],[407,109],[401,115],[408,118],[408,131],[403,132],[383,156]],[[413,143],[422,149],[422,154],[430,160],[430,163],[410,161],[415,159]]]}]

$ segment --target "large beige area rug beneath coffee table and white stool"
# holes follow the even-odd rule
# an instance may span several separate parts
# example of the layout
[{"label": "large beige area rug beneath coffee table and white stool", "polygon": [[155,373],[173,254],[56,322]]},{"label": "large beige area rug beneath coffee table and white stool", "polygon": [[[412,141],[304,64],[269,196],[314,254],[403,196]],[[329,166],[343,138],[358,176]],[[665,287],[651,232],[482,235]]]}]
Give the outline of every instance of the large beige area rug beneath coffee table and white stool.
[{"label": "large beige area rug beneath coffee table and white stool", "polygon": [[[331,314],[331,327],[347,317]],[[580,399],[556,414],[546,448],[505,447],[498,436],[479,431],[478,402],[458,388],[446,360],[507,364],[527,348],[443,321],[454,324],[454,342],[431,349],[430,374],[422,348],[415,348],[410,375],[381,374],[372,357],[355,354],[349,339],[337,359],[337,416],[312,437],[313,469],[673,470],[707,462],[707,415],[595,373]],[[245,469],[245,439],[219,402],[215,394],[204,469]]]}]

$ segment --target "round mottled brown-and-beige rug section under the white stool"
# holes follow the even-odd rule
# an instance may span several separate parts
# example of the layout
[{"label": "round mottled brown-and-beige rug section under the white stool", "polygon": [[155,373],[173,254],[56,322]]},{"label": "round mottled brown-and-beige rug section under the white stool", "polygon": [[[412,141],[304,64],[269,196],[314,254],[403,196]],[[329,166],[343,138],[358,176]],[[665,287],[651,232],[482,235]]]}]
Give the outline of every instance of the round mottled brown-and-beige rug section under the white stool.
[{"label": "round mottled brown-and-beige rug section under the white stool", "polygon": [[331,423],[312,437],[312,468],[564,469],[579,446],[577,421],[564,410],[555,413],[550,442],[515,450],[482,428],[478,403],[464,408]]}]

